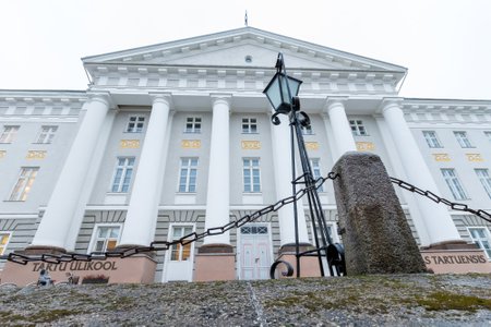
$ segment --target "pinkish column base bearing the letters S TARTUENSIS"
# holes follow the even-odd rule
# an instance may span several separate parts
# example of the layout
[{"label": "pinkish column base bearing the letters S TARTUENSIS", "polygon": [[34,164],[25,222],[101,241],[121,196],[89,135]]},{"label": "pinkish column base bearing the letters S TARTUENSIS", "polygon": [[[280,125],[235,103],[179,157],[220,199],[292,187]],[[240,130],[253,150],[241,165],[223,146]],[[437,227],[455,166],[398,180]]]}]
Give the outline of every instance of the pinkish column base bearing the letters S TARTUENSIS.
[{"label": "pinkish column base bearing the letters S TARTUENSIS", "polygon": [[420,250],[424,264],[434,274],[491,272],[483,250],[465,241],[434,243]]}]

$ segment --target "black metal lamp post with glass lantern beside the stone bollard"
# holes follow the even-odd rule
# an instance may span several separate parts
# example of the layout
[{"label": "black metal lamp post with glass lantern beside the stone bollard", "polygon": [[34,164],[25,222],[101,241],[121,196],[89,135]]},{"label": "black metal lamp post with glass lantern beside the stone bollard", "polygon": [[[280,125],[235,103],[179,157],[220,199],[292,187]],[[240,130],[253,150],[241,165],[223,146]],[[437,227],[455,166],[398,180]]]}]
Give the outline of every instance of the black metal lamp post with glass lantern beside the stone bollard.
[{"label": "black metal lamp post with glass lantern beside the stone bollard", "polygon": [[[326,257],[327,259],[331,276],[334,276],[334,270],[336,270],[337,275],[345,275],[346,270],[344,269],[345,263],[343,246],[340,244],[334,244],[328,233],[324,211],[322,209],[318,189],[315,186],[315,180],[312,173],[312,167],[310,165],[306,144],[303,142],[301,128],[310,125],[310,118],[306,112],[300,111],[300,99],[298,98],[298,92],[300,90],[302,81],[288,76],[283,53],[278,53],[275,68],[276,74],[270,81],[263,93],[266,95],[275,110],[275,113],[272,117],[272,123],[274,125],[278,125],[280,123],[280,120],[278,119],[279,114],[287,114],[289,118],[292,175],[291,191],[292,194],[297,193],[297,184],[303,184],[308,189],[307,198],[309,202],[310,218],[315,241],[315,249],[300,252],[298,205],[297,202],[294,202],[297,277],[300,277],[300,258],[302,256],[318,256],[321,276],[323,277],[325,274],[322,257]],[[298,178],[296,177],[295,141],[297,141],[300,164],[302,167],[302,174]],[[303,208],[300,209],[302,210]],[[319,231],[316,227],[319,227]],[[277,262],[274,263],[272,267],[276,266]]]}]

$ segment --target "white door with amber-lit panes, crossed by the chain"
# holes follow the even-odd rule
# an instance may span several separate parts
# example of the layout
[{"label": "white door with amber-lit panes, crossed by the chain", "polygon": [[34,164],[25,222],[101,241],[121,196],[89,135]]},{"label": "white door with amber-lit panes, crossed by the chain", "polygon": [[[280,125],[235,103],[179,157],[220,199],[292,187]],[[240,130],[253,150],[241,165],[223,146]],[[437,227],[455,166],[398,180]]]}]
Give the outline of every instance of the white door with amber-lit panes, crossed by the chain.
[{"label": "white door with amber-lit panes, crossed by the chain", "polygon": [[[193,226],[171,226],[170,241],[179,240],[193,232]],[[193,249],[194,243],[185,245],[176,244],[166,254],[166,278],[165,281],[193,279]]]}]

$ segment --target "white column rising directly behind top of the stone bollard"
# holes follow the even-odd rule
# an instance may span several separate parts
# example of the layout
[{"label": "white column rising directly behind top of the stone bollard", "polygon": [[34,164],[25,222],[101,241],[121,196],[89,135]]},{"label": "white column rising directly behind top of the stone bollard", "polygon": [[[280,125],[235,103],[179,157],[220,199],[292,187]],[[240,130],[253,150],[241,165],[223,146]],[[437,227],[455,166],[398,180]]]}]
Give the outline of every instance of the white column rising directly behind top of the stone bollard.
[{"label": "white column rising directly behind top of the stone bollard", "polygon": [[331,120],[331,129],[333,130],[334,141],[336,143],[337,156],[334,161],[337,161],[340,156],[347,152],[356,152],[357,145],[352,137],[351,128],[349,126],[348,118],[346,117],[345,106],[343,100],[328,99],[326,102],[326,110]]}]

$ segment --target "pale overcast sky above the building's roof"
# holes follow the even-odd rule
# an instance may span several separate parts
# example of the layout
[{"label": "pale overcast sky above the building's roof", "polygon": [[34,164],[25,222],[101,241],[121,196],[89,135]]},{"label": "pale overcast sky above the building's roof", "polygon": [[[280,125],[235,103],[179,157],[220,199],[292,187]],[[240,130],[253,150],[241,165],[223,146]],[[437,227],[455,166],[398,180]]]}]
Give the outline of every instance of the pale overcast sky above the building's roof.
[{"label": "pale overcast sky above the building's roof", "polygon": [[0,88],[85,89],[82,57],[242,27],[246,10],[249,26],[408,68],[402,96],[491,99],[490,0],[5,0]]}]

